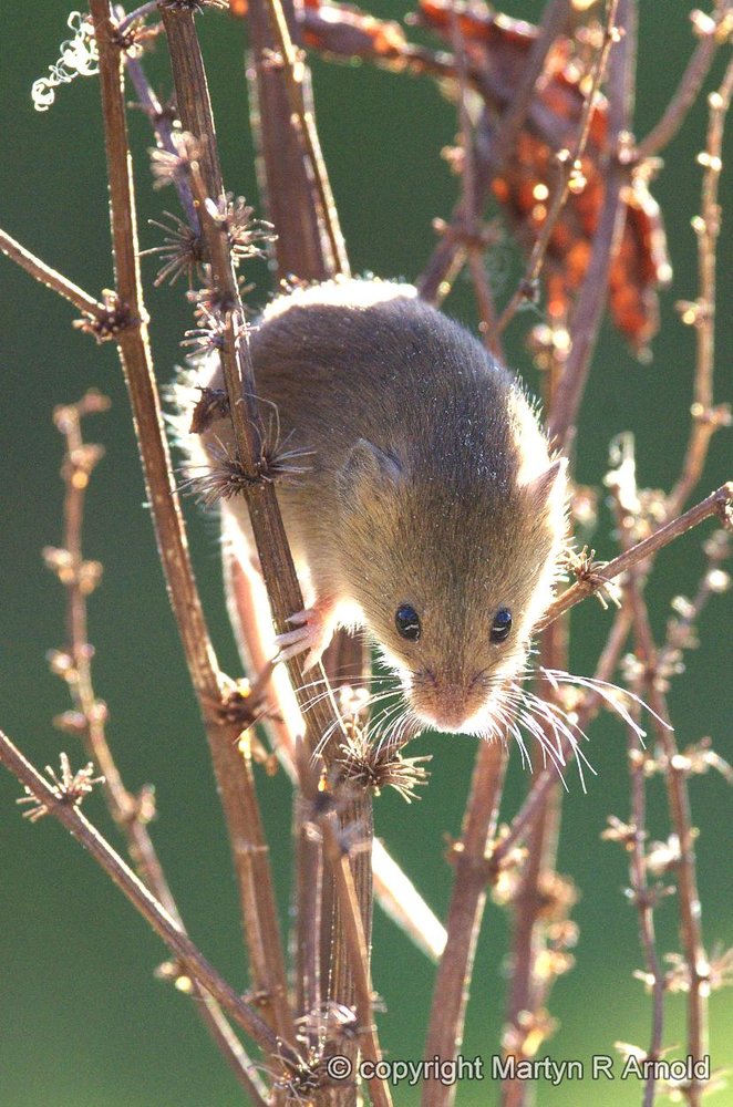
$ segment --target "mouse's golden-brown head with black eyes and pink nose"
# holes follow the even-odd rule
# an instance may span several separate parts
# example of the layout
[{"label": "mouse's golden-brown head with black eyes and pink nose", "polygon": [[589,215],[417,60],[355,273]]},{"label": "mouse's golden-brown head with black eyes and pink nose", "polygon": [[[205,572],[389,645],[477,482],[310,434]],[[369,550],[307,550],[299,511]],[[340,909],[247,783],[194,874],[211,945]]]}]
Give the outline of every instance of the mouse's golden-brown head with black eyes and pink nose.
[{"label": "mouse's golden-brown head with black eyes and pink nose", "polygon": [[476,464],[474,452],[471,469],[445,466],[445,478],[360,439],[339,475],[344,589],[412,712],[437,730],[492,733],[496,693],[525,665],[551,600],[565,462],[537,438],[534,473]]}]

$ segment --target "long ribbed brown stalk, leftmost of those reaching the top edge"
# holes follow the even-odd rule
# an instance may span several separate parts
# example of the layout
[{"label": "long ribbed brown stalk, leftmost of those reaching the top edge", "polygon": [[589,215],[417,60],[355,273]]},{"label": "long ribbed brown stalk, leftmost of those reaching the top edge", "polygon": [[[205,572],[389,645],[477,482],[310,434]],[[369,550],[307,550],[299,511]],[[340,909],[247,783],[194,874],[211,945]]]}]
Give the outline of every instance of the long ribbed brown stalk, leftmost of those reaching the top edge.
[{"label": "long ribbed brown stalk, leftmost of those reaching the top edge", "polygon": [[[286,1041],[293,1041],[285,959],[277,924],[269,855],[251,776],[238,747],[240,727],[218,714],[223,686],[200,607],[180,507],[163,432],[153,374],[137,261],[137,231],[125,120],[123,66],[109,0],[91,0],[100,54],[110,213],[117,294],[134,321],[118,337],[133,407],[148,500],[184,650],[206,724],[214,770],[233,846],[254,986],[267,996],[268,1016]],[[210,170],[209,170],[210,172]]]}]

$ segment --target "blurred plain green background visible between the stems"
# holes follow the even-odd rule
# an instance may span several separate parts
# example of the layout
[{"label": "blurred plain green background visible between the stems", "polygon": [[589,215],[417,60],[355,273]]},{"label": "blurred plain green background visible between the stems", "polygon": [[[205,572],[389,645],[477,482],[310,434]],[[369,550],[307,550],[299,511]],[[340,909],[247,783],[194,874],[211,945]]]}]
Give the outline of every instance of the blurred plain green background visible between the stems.
[{"label": "blurred plain green background visible between the stems", "polygon": [[[644,134],[667,103],[692,49],[690,4],[643,2],[640,25],[637,133]],[[513,15],[536,19],[539,0],[507,0]],[[45,115],[37,114],[30,87],[47,71],[68,37],[65,4],[13,4],[2,0],[6,19],[0,44],[0,134],[3,141],[0,220],[50,263],[92,292],[112,282],[106,223],[104,155],[94,80],[60,91]],[[373,12],[401,18],[396,0],[379,0]],[[227,187],[256,195],[242,80],[242,28],[226,15],[199,19],[224,158]],[[169,87],[165,51],[152,59],[151,72],[162,91]],[[715,68],[709,87],[720,77]],[[375,72],[368,66],[314,63],[322,143],[357,271],[413,279],[433,246],[435,216],[447,217],[456,192],[440,148],[454,138],[451,105],[427,81]],[[620,431],[637,433],[642,485],[669,487],[680,464],[688,430],[693,366],[693,334],[677,320],[673,303],[696,294],[694,238],[690,218],[699,208],[704,104],[665,154],[667,167],[654,185],[665,214],[675,270],[673,288],[662,296],[663,325],[654,360],[638,364],[618,335],[603,329],[586,397],[578,445],[578,476],[600,486],[609,439]],[[153,193],[145,149],[146,123],[131,114],[142,239],[156,245],[158,232],[146,220],[175,209],[173,194]],[[725,185],[724,178],[724,185]],[[729,249],[726,250],[726,244]],[[730,257],[730,235],[721,259]],[[180,287],[154,290],[155,263],[144,262],[152,335],[161,382],[180,359],[178,341],[190,325]],[[722,266],[720,269],[722,270]],[[518,266],[507,245],[492,261],[499,300],[513,288]],[[267,294],[264,267],[252,267],[257,290]],[[78,399],[90,385],[106,392],[113,410],[86,424],[106,457],[94,475],[89,500],[85,551],[104,562],[103,587],[91,601],[91,640],[96,646],[97,695],[110,705],[110,737],[125,780],[137,788],[153,782],[159,819],[154,837],[189,931],[231,982],[245,989],[239,923],[228,844],[213,785],[196,705],[188,686],[168,606],[148,513],[144,507],[127,402],[115,350],[71,329],[72,312],[54,294],[0,260],[0,363],[2,366],[2,515],[0,521],[0,725],[39,765],[58,764],[61,748],[78,763],[72,738],[50,725],[68,707],[62,683],[51,676],[47,650],[62,644],[64,597],[43,568],[41,548],[60,541],[62,443],[51,424],[55,404]],[[729,288],[730,293],[730,288]],[[730,338],[730,311],[719,327],[719,350]],[[468,286],[460,281],[450,310],[474,322]],[[526,317],[513,329],[513,364],[530,386],[535,374],[520,334]],[[719,364],[725,364],[719,358]],[[720,376],[723,376],[722,371]],[[726,385],[719,381],[717,399]],[[729,391],[730,395],[730,391]],[[725,477],[730,439],[713,443],[700,494]],[[216,524],[189,507],[198,578],[224,666],[238,672],[220,594]],[[710,531],[710,526],[708,531]],[[593,545],[613,550],[606,514]],[[702,534],[665,550],[650,587],[654,625],[664,627],[669,601],[691,592],[703,565]],[[688,656],[686,672],[674,685],[671,704],[681,745],[710,734],[731,755],[731,600],[715,600],[701,622],[703,645]],[[572,664],[591,673],[610,615],[588,603],[575,618]],[[622,1039],[644,1045],[650,1004],[632,980],[641,965],[634,912],[623,899],[626,858],[601,842],[609,814],[628,810],[624,734],[615,721],[591,727],[589,756],[598,770],[584,794],[570,774],[560,844],[560,869],[572,876],[582,898],[575,910],[580,943],[575,971],[557,984],[551,1012],[560,1030],[548,1046],[555,1059],[612,1053]],[[376,829],[413,876],[433,908],[443,914],[451,871],[443,860],[443,836],[457,834],[475,743],[425,736],[415,753],[432,753],[432,779],[412,807],[385,795],[376,804]],[[509,817],[527,780],[514,758],[506,795]],[[290,788],[278,777],[260,779],[262,807],[278,879],[282,918],[287,917],[290,872]],[[0,774],[0,1104],[2,1107],[208,1107],[240,1101],[224,1064],[195,1018],[190,1004],[153,979],[165,951],[110,881],[51,820],[35,827],[14,806],[17,783]],[[695,821],[701,828],[699,860],[709,948],[733,944],[731,794],[716,775],[691,785]],[[107,830],[99,796],[85,810]],[[662,787],[650,786],[650,830],[669,830]],[[679,948],[677,906],[667,900],[658,913],[660,949]],[[481,940],[464,1053],[495,1052],[502,1025],[506,919],[488,906]],[[382,1039],[392,1057],[421,1056],[433,968],[379,913],[375,920],[374,980],[388,1011]],[[668,1002],[664,1042],[683,1043],[683,999]],[[715,994],[711,1004],[714,1066],[733,1062],[733,993]],[[547,1107],[640,1101],[634,1082],[538,1088]],[[710,1099],[722,1107],[730,1090]],[[398,1103],[416,1101],[401,1089]],[[466,1085],[465,1104],[496,1101],[488,1084]]]}]

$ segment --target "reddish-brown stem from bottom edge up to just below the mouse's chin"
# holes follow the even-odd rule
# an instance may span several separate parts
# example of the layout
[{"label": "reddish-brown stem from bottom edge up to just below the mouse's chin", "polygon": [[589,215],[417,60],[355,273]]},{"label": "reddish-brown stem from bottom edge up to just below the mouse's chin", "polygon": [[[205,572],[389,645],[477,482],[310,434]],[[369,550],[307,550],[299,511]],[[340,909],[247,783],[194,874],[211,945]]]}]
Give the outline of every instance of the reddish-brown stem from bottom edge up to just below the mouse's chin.
[{"label": "reddish-brown stem from bottom edge up to just below the mouse's chin", "polygon": [[[486,847],[496,834],[507,751],[499,742],[482,742],[471,784],[461,841],[452,850],[455,869],[447,918],[447,940],[433,990],[425,1056],[455,1057],[473,973],[473,961],[486,902]],[[447,1107],[455,1085],[425,1080],[423,1107]]]}]

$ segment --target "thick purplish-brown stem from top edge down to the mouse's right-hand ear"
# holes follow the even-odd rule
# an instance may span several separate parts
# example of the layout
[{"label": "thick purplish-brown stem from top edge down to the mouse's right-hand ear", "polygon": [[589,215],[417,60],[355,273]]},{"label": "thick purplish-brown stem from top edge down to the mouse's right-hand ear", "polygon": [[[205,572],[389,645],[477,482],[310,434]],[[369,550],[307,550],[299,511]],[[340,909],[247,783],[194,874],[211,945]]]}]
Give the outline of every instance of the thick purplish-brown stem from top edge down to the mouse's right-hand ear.
[{"label": "thick purplish-brown stem from top edge down to the mouse's right-hand ear", "polygon": [[606,173],[603,204],[588,270],[570,319],[571,348],[548,418],[549,435],[558,446],[566,443],[578,416],[606,307],[610,267],[626,218],[622,193],[629,167],[622,154],[631,133],[633,114],[637,60],[636,0],[616,0],[613,7],[616,18],[612,25],[617,29],[618,41],[608,59],[609,165]]}]

